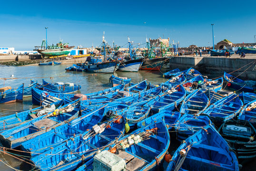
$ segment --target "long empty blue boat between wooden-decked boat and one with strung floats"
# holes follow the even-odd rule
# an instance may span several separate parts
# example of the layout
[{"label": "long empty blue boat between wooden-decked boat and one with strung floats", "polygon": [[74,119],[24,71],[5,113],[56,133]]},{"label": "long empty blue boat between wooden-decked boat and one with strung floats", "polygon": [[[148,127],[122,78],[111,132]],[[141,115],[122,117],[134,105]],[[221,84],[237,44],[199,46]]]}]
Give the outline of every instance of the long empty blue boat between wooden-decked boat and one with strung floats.
[{"label": "long empty blue boat between wooden-decked boat and one with strung floats", "polygon": [[58,146],[62,142],[69,140],[69,138],[80,136],[94,125],[102,122],[106,109],[106,105],[96,110],[91,110],[87,106],[81,106],[83,111],[81,117],[23,142],[21,150],[27,156],[36,156],[38,153],[44,153]]}]

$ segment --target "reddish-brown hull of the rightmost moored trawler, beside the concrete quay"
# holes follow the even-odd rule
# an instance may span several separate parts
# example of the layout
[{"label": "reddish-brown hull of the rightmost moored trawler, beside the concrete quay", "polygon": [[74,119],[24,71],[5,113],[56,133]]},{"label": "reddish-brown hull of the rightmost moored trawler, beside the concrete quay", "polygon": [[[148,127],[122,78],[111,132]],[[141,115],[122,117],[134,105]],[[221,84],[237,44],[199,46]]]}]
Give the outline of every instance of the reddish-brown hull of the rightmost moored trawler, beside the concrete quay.
[{"label": "reddish-brown hull of the rightmost moored trawler, beside the concrete quay", "polygon": [[165,63],[165,60],[167,60],[166,57],[144,60],[140,70],[160,71]]}]

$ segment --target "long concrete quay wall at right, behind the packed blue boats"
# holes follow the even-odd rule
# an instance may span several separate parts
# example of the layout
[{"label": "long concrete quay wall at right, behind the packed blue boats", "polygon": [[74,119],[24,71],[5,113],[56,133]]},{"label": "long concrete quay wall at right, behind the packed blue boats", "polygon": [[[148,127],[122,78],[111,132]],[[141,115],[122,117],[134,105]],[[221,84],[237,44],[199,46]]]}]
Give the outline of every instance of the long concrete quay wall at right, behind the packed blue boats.
[{"label": "long concrete quay wall at right, behind the packed blue boats", "polygon": [[[244,79],[256,80],[256,55],[246,55],[240,58],[238,55],[229,57],[202,57],[179,56],[170,59],[170,70],[180,70],[193,67],[205,75],[222,76],[224,71],[233,72],[232,75]],[[237,70],[237,71],[236,71]]]}]

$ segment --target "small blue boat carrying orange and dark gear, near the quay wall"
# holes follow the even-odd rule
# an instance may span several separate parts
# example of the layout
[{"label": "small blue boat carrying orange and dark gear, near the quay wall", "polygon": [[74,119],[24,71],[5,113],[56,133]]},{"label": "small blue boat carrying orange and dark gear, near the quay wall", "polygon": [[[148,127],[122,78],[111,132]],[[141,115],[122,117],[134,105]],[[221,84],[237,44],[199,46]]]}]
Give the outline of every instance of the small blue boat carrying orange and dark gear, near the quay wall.
[{"label": "small blue boat carrying orange and dark gear, near the quay wall", "polygon": [[193,90],[200,88],[200,86],[203,84],[204,84],[204,78],[199,75],[199,76],[187,79],[187,81],[183,84],[183,86],[187,90],[187,94],[190,94]]}]

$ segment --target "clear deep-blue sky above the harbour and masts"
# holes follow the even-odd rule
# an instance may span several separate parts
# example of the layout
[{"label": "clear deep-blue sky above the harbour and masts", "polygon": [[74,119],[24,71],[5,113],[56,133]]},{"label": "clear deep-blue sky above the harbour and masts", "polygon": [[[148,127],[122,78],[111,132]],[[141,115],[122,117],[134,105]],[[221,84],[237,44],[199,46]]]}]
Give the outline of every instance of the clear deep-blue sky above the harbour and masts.
[{"label": "clear deep-blue sky above the harbour and masts", "polygon": [[[25,2],[24,2],[25,1]],[[0,9],[0,47],[31,50],[45,38],[91,47],[106,40],[125,45],[169,37],[180,47],[212,46],[224,38],[254,42],[256,0],[4,0]],[[146,23],[145,23],[146,22]],[[126,46],[125,46],[126,47]]]}]

